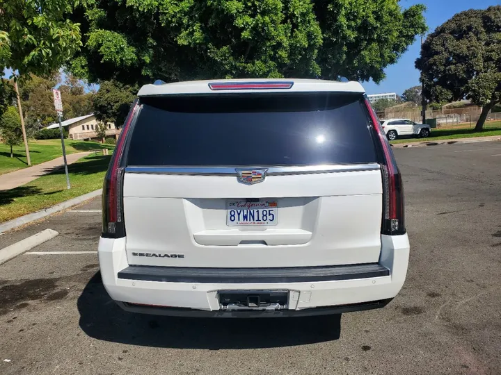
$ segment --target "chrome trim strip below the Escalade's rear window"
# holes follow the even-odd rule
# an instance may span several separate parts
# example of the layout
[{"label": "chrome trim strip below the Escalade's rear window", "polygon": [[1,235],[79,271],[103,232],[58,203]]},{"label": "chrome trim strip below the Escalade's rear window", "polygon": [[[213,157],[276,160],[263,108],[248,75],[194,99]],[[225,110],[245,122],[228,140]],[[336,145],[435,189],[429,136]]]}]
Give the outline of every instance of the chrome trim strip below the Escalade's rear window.
[{"label": "chrome trim strip below the Escalade's rear window", "polygon": [[378,171],[381,166],[377,163],[348,164],[348,165],[304,165],[300,167],[126,167],[126,173],[134,174],[187,174],[193,176],[237,176],[237,169],[267,168],[267,176],[281,176],[286,174],[317,174],[336,172],[363,172]]}]

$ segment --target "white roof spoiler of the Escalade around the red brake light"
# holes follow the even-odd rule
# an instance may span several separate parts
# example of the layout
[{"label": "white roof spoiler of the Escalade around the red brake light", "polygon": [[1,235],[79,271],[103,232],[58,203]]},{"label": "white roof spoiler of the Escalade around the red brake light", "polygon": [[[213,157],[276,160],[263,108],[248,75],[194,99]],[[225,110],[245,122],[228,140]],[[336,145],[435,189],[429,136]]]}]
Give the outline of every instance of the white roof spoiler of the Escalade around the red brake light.
[{"label": "white roof spoiler of the Escalade around the red brake light", "polygon": [[[239,83],[241,85],[239,85]],[[244,83],[255,87],[242,86]],[[281,88],[262,88],[260,84],[280,84],[283,83],[289,87]],[[216,88],[218,84],[219,87]],[[235,88],[232,85],[237,85]],[[211,88],[212,86],[212,88]],[[225,87],[224,87],[225,86]],[[248,86],[248,85],[247,85]],[[218,92],[365,92],[364,88],[358,82],[338,82],[324,81],[321,79],[294,79],[294,78],[248,78],[248,79],[212,79],[210,81],[188,81],[164,83],[157,85],[144,85],[138,92],[138,97],[150,97],[156,95],[173,94],[209,94]]]}]

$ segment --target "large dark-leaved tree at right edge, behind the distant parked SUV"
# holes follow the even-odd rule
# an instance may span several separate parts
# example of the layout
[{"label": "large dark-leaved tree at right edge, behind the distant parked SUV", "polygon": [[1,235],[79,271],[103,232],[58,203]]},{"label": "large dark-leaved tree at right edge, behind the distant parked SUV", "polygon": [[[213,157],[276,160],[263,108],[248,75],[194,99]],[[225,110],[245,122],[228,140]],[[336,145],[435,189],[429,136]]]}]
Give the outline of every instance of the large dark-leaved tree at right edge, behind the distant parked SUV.
[{"label": "large dark-leaved tree at right edge, behind the distant parked SUV", "polygon": [[438,26],[415,63],[431,101],[465,97],[483,106],[475,131],[501,101],[501,6],[466,10]]}]

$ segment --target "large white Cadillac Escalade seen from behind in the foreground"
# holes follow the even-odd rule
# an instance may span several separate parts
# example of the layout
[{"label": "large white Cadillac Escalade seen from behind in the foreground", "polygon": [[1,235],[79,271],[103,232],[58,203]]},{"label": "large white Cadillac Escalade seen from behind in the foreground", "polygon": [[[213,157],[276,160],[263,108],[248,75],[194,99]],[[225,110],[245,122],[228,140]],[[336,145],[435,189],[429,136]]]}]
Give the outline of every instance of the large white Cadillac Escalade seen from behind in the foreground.
[{"label": "large white Cadillac Escalade seen from behind in the foreground", "polygon": [[213,317],[385,306],[406,278],[401,176],[357,82],[145,85],[103,190],[122,308]]}]

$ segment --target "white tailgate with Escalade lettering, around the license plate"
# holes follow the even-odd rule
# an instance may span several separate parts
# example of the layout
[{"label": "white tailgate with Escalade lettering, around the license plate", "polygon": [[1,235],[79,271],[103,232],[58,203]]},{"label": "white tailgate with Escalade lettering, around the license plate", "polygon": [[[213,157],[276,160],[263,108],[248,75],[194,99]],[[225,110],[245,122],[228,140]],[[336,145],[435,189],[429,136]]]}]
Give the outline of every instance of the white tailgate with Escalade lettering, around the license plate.
[{"label": "white tailgate with Escalade lettering, around the license plate", "polygon": [[[294,267],[376,263],[381,249],[381,172],[268,176],[126,173],[131,265]],[[371,170],[372,169],[372,170]],[[136,169],[138,171],[138,169]],[[273,202],[273,226],[228,226],[229,201]],[[164,254],[174,257],[162,257]],[[182,255],[182,257],[178,256]]]}]

